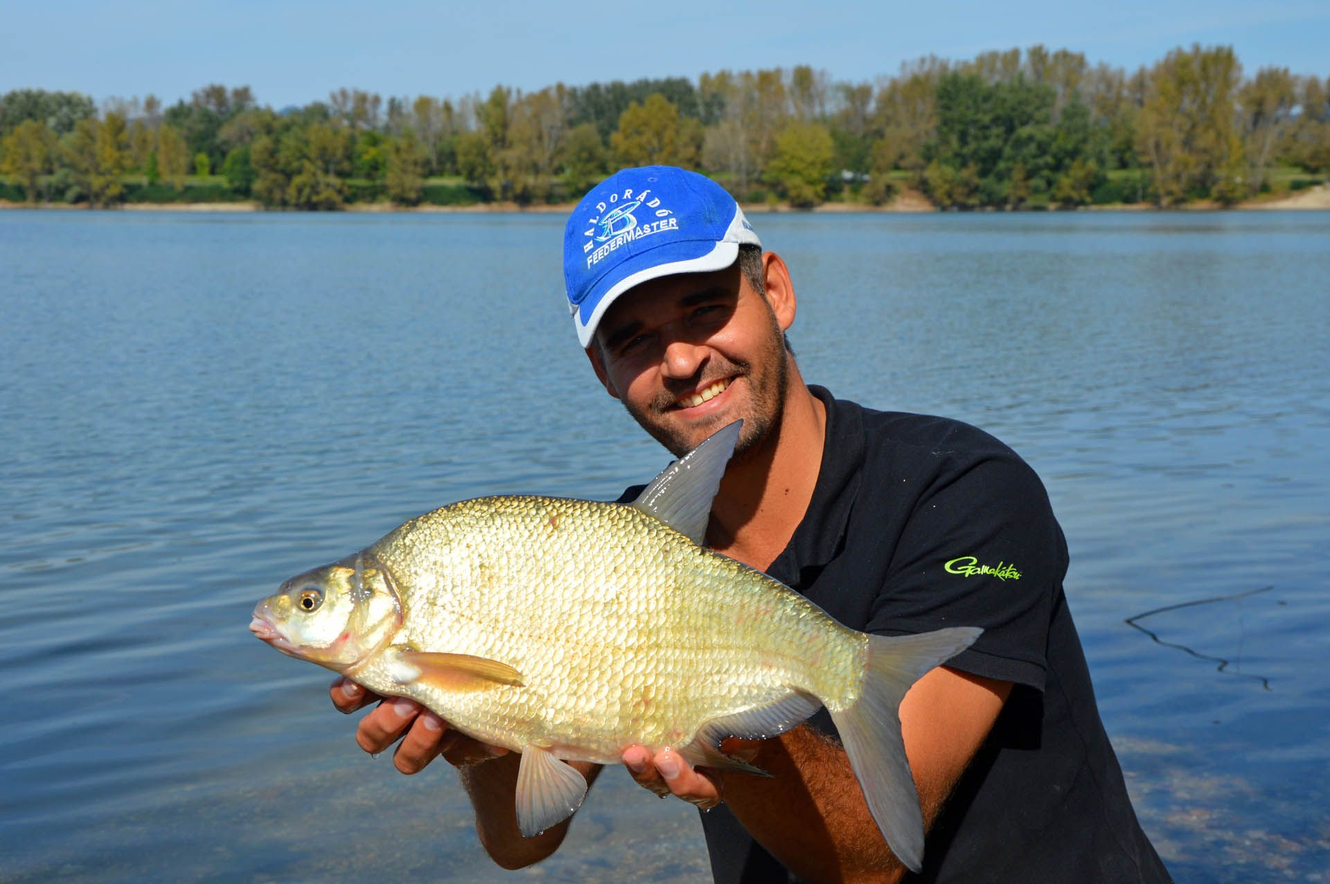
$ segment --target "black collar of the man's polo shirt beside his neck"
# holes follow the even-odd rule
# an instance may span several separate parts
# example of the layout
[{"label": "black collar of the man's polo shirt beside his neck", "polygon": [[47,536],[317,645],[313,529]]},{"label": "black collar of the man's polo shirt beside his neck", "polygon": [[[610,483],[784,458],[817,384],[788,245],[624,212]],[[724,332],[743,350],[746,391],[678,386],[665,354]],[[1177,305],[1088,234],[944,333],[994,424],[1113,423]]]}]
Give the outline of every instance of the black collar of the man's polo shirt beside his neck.
[{"label": "black collar of the man's polo shirt beside his neck", "polygon": [[807,569],[821,570],[835,558],[863,479],[863,408],[835,399],[825,387],[810,384],[809,391],[826,405],[826,439],[809,509],[771,562],[771,576],[790,586],[802,584]]}]

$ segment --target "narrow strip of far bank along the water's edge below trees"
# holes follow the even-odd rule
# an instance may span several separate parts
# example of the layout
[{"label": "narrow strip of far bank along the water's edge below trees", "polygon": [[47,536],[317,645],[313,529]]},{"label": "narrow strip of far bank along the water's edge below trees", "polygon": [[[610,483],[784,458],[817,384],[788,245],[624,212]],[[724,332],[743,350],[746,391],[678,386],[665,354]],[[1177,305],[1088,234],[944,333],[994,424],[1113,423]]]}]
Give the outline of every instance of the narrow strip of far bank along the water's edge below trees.
[{"label": "narrow strip of far bank along the water's edge below trees", "polygon": [[[541,205],[519,205],[516,202],[477,202],[468,206],[399,206],[391,202],[354,202],[347,203],[338,211],[364,211],[364,213],[390,213],[390,211],[410,211],[410,213],[533,213],[533,214],[568,214],[573,210],[576,203],[541,203]],[[78,203],[24,203],[24,202],[9,202],[0,199],[0,209],[44,209],[44,210],[86,210],[92,209],[86,202]],[[1196,201],[1189,202],[1182,206],[1176,206],[1174,209],[1160,209],[1153,203],[1137,202],[1137,203],[1105,203],[1099,206],[1081,206],[1077,211],[1213,211],[1220,209],[1238,209],[1238,210],[1330,210],[1330,185],[1319,185],[1317,187],[1309,187],[1290,194],[1281,195],[1266,195],[1257,199],[1246,199],[1232,206],[1222,206],[1212,201]],[[125,202],[116,206],[108,206],[105,210],[110,211],[281,211],[273,209],[265,209],[261,203],[255,201],[243,202]],[[743,203],[743,211],[747,214],[763,214],[763,213],[825,213],[825,214],[838,214],[838,213],[855,213],[855,211],[870,211],[870,213],[927,213],[939,211],[928,199],[915,191],[906,190],[898,194],[891,202],[882,206],[870,206],[864,203],[850,203],[850,202],[825,202],[813,209],[794,209],[789,203],[773,203],[773,202],[755,202]],[[995,211],[995,210],[988,210]]]}]

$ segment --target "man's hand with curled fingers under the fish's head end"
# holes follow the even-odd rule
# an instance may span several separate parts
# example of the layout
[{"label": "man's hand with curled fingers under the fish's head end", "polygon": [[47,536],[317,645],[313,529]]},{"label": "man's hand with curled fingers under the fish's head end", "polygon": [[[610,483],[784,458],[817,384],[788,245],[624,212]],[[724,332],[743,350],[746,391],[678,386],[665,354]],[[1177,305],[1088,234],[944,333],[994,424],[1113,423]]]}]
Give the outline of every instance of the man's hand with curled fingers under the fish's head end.
[{"label": "man's hand with curled fingers under the fish's head end", "polygon": [[344,677],[332,682],[329,695],[342,713],[379,703],[378,709],[360,719],[355,728],[355,742],[366,752],[376,755],[400,739],[392,754],[392,766],[403,774],[423,771],[439,755],[454,767],[468,767],[508,754],[501,746],[488,746],[452,730],[447,722],[415,701],[379,697]]}]

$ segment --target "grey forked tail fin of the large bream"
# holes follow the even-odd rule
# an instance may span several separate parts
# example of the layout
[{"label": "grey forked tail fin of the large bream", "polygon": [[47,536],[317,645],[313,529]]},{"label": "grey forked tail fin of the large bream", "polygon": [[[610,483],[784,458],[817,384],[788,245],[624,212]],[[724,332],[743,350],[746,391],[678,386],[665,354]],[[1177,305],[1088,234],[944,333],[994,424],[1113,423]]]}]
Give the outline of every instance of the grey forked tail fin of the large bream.
[{"label": "grey forked tail fin of the large bream", "polygon": [[923,814],[900,738],[900,701],[934,666],[951,659],[982,629],[939,629],[919,635],[868,635],[859,699],[831,713],[868,812],[907,868],[923,867]]}]

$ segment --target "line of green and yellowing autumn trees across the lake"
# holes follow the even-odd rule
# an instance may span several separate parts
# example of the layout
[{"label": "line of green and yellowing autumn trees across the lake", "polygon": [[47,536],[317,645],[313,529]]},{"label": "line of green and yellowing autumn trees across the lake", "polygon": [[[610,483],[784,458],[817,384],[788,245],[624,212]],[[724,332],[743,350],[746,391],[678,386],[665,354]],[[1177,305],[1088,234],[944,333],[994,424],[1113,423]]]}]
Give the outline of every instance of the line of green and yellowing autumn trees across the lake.
[{"label": "line of green and yellowing autumn trees across the lake", "polygon": [[209,85],[98,108],[80,93],[0,97],[0,197],[113,205],[255,199],[267,207],[576,199],[626,165],[700,169],[745,201],[939,207],[1232,203],[1330,173],[1330,77],[1229,47],[1174,49],[1133,73],[1032,47],[920,58],[876,82],[809,66],[495,86],[459,100],[338,89],[274,110]]}]

